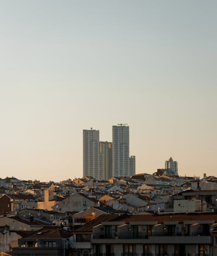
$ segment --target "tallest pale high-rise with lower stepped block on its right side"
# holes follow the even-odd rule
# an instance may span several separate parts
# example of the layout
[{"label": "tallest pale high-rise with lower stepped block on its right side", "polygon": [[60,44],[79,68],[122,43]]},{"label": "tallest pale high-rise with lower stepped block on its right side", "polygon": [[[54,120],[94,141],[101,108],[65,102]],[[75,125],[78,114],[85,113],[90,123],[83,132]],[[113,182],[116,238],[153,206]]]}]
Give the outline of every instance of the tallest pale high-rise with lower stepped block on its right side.
[{"label": "tallest pale high-rise with lower stepped block on its right side", "polygon": [[112,126],[112,146],[112,176],[134,175],[135,157],[131,162],[129,158],[129,126]]}]

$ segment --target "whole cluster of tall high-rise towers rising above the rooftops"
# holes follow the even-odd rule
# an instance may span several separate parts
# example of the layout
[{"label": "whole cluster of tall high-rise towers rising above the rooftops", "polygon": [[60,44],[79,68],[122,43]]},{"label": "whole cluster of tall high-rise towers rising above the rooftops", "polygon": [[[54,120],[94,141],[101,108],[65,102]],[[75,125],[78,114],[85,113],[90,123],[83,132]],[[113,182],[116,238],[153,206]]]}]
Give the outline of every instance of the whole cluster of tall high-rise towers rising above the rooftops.
[{"label": "whole cluster of tall high-rise towers rising above the rooftops", "polygon": [[135,174],[135,156],[129,157],[129,126],[112,126],[112,142],[99,141],[99,130],[83,130],[83,176],[108,180]]}]

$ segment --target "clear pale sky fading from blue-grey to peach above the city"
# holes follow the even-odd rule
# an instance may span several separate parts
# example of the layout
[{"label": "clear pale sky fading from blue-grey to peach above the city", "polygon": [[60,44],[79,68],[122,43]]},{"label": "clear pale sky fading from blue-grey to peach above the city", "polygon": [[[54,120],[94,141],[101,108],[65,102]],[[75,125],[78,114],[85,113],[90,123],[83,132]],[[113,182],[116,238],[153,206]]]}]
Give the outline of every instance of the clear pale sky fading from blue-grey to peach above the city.
[{"label": "clear pale sky fading from blue-grey to peach above the city", "polygon": [[128,123],[136,173],[217,176],[215,0],[0,0],[0,178],[82,177]]}]

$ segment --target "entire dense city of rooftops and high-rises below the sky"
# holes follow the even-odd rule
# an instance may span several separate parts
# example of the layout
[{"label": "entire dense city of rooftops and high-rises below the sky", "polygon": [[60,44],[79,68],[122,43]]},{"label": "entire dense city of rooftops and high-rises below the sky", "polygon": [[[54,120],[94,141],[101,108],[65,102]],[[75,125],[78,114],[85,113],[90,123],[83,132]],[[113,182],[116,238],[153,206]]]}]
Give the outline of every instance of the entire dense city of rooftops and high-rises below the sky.
[{"label": "entire dense city of rooftops and high-rises below the sky", "polygon": [[[135,173],[129,126],[83,130],[83,177],[0,179],[0,255],[217,255],[217,177]],[[52,178],[52,176],[51,176]]]}]

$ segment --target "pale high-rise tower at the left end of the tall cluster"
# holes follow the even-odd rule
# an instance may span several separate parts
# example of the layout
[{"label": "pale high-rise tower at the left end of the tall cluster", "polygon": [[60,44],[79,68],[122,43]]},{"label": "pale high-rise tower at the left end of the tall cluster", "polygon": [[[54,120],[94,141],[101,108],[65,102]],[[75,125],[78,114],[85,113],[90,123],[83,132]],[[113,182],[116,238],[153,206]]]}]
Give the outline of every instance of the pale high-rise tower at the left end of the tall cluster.
[{"label": "pale high-rise tower at the left end of the tall cluster", "polygon": [[83,176],[100,179],[99,130],[83,130]]}]

